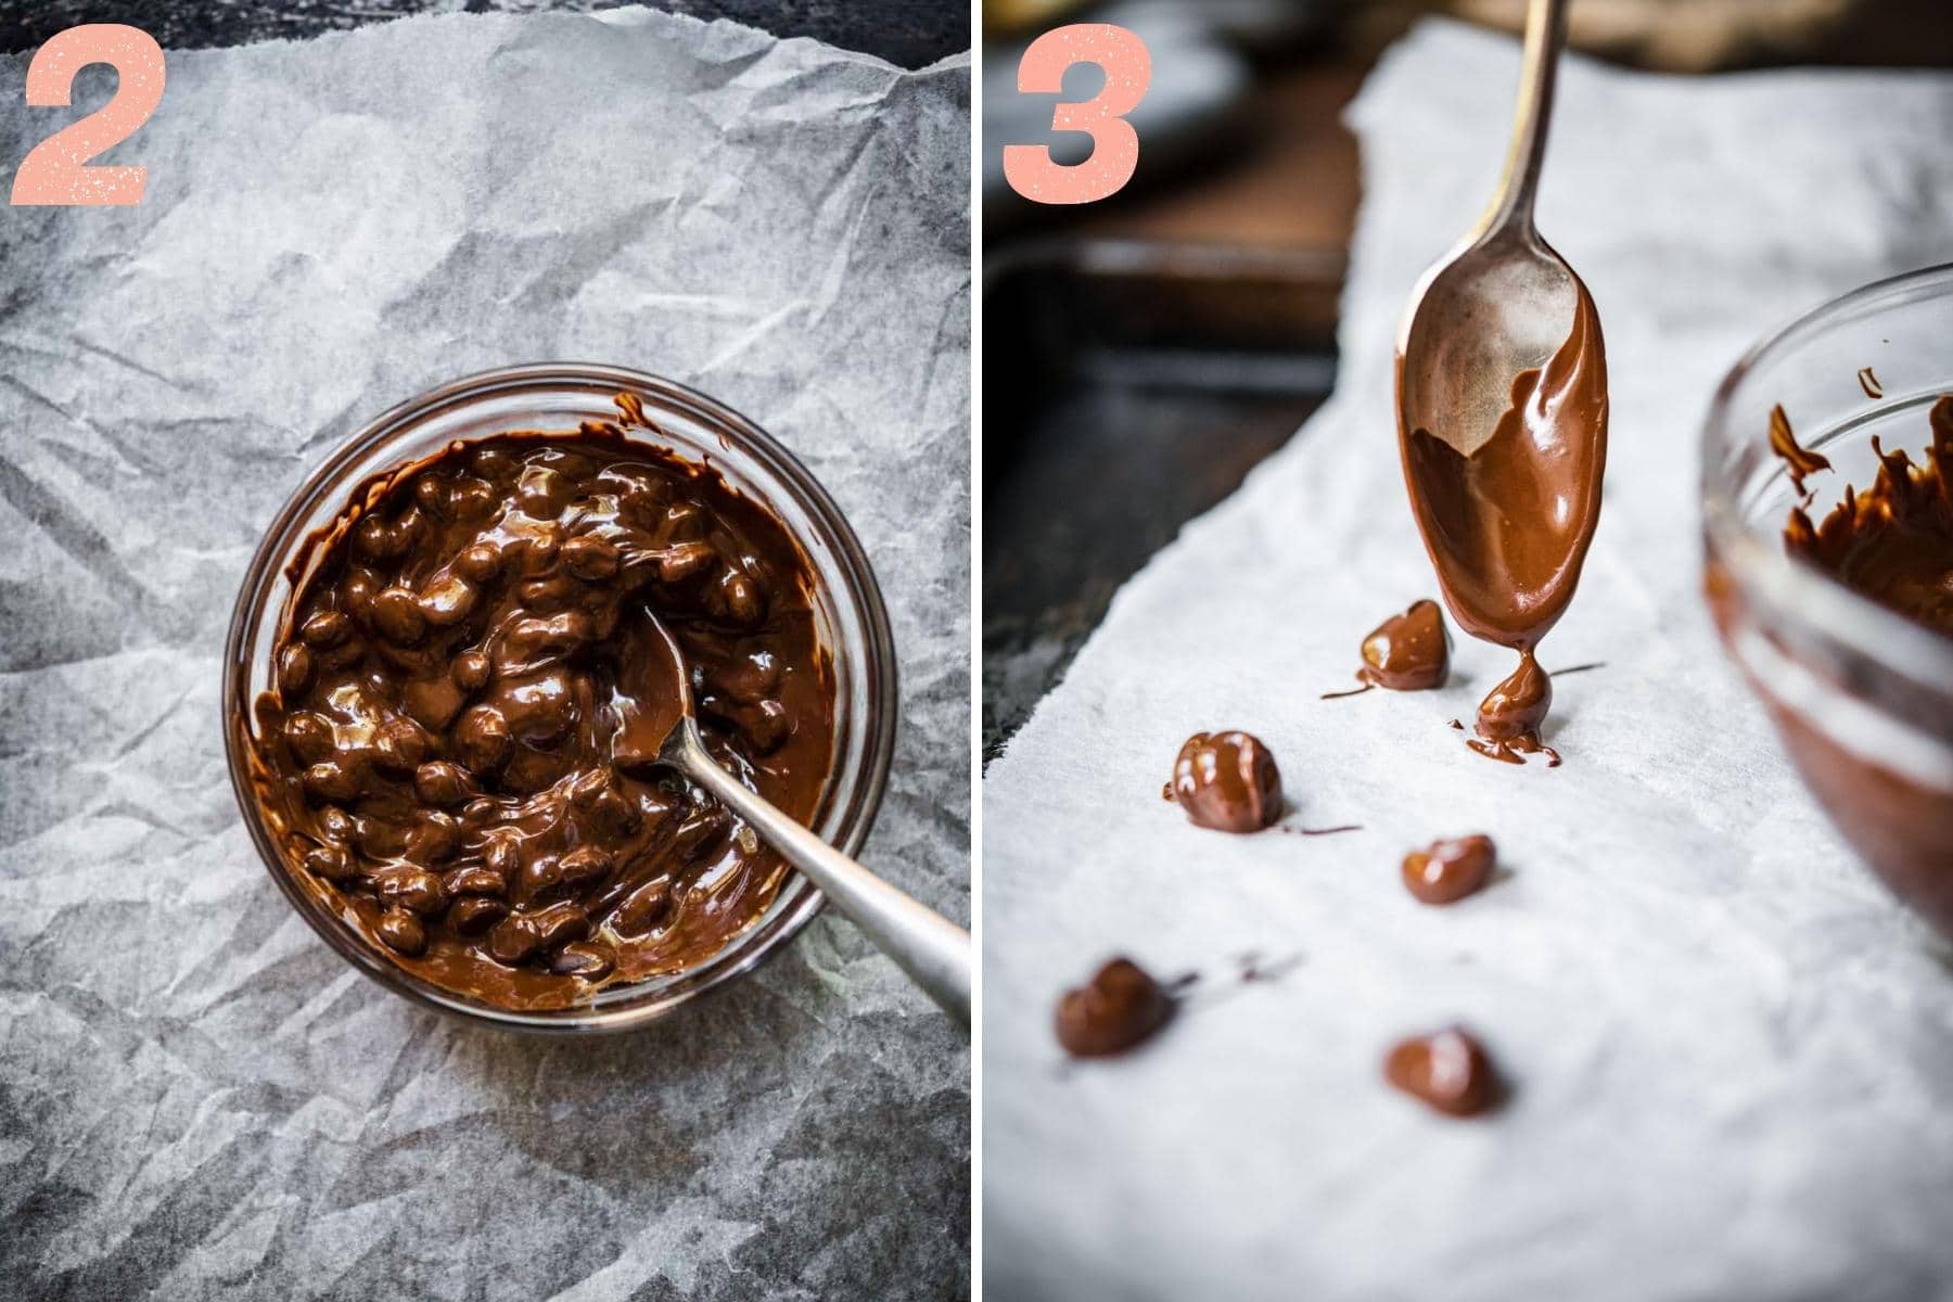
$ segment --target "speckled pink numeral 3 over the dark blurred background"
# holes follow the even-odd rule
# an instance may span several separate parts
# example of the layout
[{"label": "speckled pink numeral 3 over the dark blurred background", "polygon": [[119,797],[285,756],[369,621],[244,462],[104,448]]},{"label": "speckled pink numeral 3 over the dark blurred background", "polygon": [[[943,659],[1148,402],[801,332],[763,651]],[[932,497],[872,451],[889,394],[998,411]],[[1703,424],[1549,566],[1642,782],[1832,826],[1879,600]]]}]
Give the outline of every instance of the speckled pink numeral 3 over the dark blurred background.
[{"label": "speckled pink numeral 3 over the dark blurred background", "polygon": [[1051,115],[1053,131],[1084,131],[1092,137],[1092,156],[1074,166],[1051,160],[1045,144],[1006,144],[1004,180],[1033,203],[1092,203],[1133,180],[1139,166],[1139,133],[1125,115],[1139,107],[1152,84],[1152,55],[1146,43],[1111,23],[1072,23],[1031,41],[1018,61],[1018,90],[1029,96],[1064,94],[1064,70],[1074,62],[1096,62],[1105,70],[1105,88],[1084,103],[1060,103]]}]

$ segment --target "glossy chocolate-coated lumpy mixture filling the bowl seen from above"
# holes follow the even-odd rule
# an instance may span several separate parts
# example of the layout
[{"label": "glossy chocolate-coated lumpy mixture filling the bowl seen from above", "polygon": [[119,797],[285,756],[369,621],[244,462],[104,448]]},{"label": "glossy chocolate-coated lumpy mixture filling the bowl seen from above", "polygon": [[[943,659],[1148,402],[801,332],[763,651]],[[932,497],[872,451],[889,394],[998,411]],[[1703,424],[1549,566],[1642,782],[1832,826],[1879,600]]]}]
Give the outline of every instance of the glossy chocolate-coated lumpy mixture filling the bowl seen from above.
[{"label": "glossy chocolate-coated lumpy mixture filling the bowl seen from above", "polygon": [[750,828],[615,753],[676,718],[686,673],[713,755],[818,810],[816,580],[717,470],[609,424],[451,443],[361,486],[293,576],[258,794],[293,871],[395,962],[564,1007],[699,964],[771,902],[785,869]]}]

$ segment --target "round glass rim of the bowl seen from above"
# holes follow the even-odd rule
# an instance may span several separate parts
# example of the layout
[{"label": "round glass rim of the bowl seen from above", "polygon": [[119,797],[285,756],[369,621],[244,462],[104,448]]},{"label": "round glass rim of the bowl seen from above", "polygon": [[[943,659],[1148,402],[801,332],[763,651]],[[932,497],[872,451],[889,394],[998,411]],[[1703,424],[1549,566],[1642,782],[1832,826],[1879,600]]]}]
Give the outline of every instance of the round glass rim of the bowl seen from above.
[{"label": "round glass rim of the bowl seen from above", "polygon": [[[787,451],[779,439],[769,435],[756,422],[680,381],[605,363],[539,361],[492,367],[488,371],[463,375],[387,408],[359,429],[346,435],[346,439],[342,439],[322,463],[307,472],[297,488],[293,488],[285,498],[283,506],[279,506],[271,523],[266,525],[238,586],[238,597],[230,613],[230,629],[225,636],[223,654],[225,681],[219,709],[225,730],[225,759],[230,771],[232,794],[238,800],[244,826],[266,873],[270,873],[287,902],[312,927],[312,931],[316,931],[332,951],[336,951],[361,974],[422,1007],[430,1007],[437,1013],[445,1013],[473,1025],[551,1035],[629,1031],[658,1021],[682,1003],[687,1003],[709,990],[717,990],[719,986],[756,970],[766,958],[785,949],[793,937],[797,937],[801,929],[814,919],[826,904],[826,896],[812,882],[801,878],[801,898],[771,923],[764,923],[769,927],[764,935],[760,935],[762,923],[756,923],[752,929],[734,937],[734,941],[707,960],[705,966],[689,972],[678,972],[668,986],[658,990],[654,997],[623,1003],[619,1007],[578,1005],[543,1011],[500,1009],[486,1003],[467,1001],[453,992],[412,976],[404,968],[387,960],[383,955],[373,953],[373,947],[353,935],[350,927],[338,919],[324,917],[320,904],[309,898],[303,884],[293,878],[279,847],[264,828],[264,822],[258,816],[256,793],[248,781],[246,732],[250,703],[244,697],[248,695],[252,670],[246,660],[246,640],[250,638],[250,631],[254,627],[252,613],[256,607],[262,607],[262,615],[273,613],[270,599],[271,591],[277,586],[277,578],[283,574],[291,545],[297,543],[293,529],[309,513],[309,506],[316,506],[312,504],[312,498],[316,498],[326,484],[334,484],[344,478],[348,468],[359,465],[365,457],[385,447],[385,443],[396,437],[406,426],[424,416],[437,414],[441,408],[459,406],[475,398],[545,388],[553,385],[584,388],[598,387],[609,388],[611,392],[635,390],[646,398],[656,396],[658,400],[672,402],[695,424],[709,427],[711,433],[728,439],[740,451],[756,457],[773,476],[777,476],[783,488],[791,490],[791,494],[799,498],[797,506],[816,517],[816,521],[832,535],[828,541],[834,545],[834,562],[846,578],[846,591],[838,593],[838,599],[852,599],[857,607],[865,632],[865,644],[861,648],[861,679],[863,697],[867,701],[863,711],[863,765],[859,771],[861,794],[855,802],[855,814],[840,828],[836,845],[850,855],[861,849],[861,843],[875,826],[883,796],[887,794],[889,771],[894,759],[896,716],[900,714],[894,634],[889,623],[889,609],[883,599],[881,584],[875,578],[867,550],[861,547],[861,539],[855,535],[853,525],[828,494],[826,486],[814,478],[799,457]],[[342,488],[350,492],[352,484],[342,484]],[[791,867],[787,873],[789,876],[793,875]],[[750,941],[748,937],[754,935],[760,935],[760,939]],[[734,953],[728,955],[728,951]]]}]

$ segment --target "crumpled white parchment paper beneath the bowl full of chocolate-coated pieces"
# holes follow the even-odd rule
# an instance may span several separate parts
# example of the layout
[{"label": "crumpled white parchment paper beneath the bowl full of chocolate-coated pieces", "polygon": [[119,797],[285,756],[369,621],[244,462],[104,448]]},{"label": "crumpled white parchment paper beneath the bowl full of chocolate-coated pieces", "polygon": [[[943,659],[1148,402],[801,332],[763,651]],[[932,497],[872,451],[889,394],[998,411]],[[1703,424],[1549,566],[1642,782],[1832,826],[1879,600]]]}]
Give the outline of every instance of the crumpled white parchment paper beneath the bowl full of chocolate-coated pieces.
[{"label": "crumpled white parchment paper beneath the bowl full of chocolate-coated pieces", "polygon": [[[0,94],[0,158],[74,113]],[[111,74],[84,74],[78,107]],[[969,66],[650,12],[172,53],[133,209],[0,209],[0,1294],[967,1296],[969,1052],[846,923],[625,1038],[357,976],[238,822],[244,564],[371,416],[545,359],[803,457],[900,652],[867,861],[969,915]]]}]

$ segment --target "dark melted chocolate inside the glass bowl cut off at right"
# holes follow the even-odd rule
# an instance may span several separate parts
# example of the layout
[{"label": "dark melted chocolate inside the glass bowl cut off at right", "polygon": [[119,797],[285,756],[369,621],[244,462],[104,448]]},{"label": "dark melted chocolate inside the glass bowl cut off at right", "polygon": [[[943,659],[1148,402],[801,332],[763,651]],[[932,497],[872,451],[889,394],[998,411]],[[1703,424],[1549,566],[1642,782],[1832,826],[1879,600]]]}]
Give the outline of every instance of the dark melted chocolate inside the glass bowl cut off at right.
[{"label": "dark melted chocolate inside the glass bowl cut off at right", "polygon": [[[1777,447],[1781,414],[1783,408],[1771,412],[1771,447]],[[1904,451],[1887,453],[1873,437],[1879,476],[1871,490],[1846,488],[1818,525],[1795,508],[1783,543],[1793,556],[1846,588],[1953,636],[1953,396],[1933,402],[1930,420],[1932,445],[1924,465],[1912,465]],[[1789,435],[1787,420],[1783,429]],[[1803,457],[1830,465],[1814,453]],[[1787,461],[1801,486],[1799,463]]]}]

